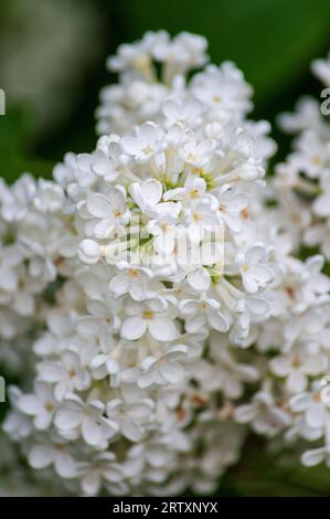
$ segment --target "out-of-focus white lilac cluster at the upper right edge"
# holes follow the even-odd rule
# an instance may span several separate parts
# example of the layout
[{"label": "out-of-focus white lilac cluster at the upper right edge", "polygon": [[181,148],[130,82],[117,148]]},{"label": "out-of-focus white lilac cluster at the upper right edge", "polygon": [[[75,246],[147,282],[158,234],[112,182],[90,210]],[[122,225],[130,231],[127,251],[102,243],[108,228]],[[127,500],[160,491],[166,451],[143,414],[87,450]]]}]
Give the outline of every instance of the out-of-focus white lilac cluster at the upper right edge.
[{"label": "out-of-focus white lilac cluster at the upper right edge", "polygon": [[330,59],[316,60],[311,68],[328,88],[322,91],[320,102],[304,98],[295,114],[281,116],[283,128],[296,138],[294,151],[286,162],[278,165],[277,187],[304,214],[297,222],[302,243],[307,247],[319,247],[329,261],[330,124],[321,108],[323,105],[326,114],[329,112]]}]

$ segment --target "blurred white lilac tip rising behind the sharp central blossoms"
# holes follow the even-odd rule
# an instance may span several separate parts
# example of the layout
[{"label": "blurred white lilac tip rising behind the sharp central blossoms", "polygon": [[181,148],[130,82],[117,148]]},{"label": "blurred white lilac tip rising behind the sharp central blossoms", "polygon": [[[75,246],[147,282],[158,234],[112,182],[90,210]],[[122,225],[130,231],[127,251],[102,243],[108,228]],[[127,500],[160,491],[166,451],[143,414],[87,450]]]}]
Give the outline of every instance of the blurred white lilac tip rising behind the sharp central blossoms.
[{"label": "blurred white lilac tip rising behind the sharp central blossoms", "polygon": [[166,31],[148,32],[139,42],[120,45],[107,62],[119,80],[100,93],[97,133],[131,134],[148,120],[166,128],[175,123],[195,128],[207,121],[210,138],[227,128],[246,129],[248,136],[239,140],[254,146],[259,159],[270,157],[276,147],[267,136],[268,123],[246,120],[253,107],[251,85],[232,62],[207,64],[206,50],[203,36],[182,32],[171,40]]}]

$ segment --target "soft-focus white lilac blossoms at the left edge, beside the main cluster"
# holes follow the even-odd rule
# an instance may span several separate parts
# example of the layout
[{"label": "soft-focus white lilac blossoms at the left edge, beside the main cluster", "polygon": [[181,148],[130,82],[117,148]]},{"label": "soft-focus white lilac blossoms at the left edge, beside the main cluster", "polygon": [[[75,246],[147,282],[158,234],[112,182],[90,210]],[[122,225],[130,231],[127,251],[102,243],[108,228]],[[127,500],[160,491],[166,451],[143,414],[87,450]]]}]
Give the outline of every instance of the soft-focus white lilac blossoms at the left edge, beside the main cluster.
[{"label": "soft-focus white lilac blossoms at the left edge, beside the main cluster", "polygon": [[26,373],[29,343],[44,325],[52,283],[62,273],[68,233],[65,216],[55,213],[63,200],[60,186],[29,174],[0,184],[0,359],[13,373]]}]

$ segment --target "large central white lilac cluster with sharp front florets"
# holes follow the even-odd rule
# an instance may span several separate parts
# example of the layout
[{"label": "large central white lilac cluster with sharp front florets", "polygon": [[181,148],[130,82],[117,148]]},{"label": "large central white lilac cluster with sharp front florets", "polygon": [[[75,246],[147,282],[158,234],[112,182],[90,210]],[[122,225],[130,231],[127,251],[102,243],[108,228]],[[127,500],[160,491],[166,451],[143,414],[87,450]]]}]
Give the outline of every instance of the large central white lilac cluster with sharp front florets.
[{"label": "large central white lilac cluster with sharp front florets", "polygon": [[317,442],[306,465],[330,452],[330,279],[297,255],[311,209],[284,166],[263,180],[275,145],[242,73],[191,74],[205,50],[121,45],[96,149],[1,191],[3,311],[40,329],[4,430],[62,492],[211,492],[249,430]]}]

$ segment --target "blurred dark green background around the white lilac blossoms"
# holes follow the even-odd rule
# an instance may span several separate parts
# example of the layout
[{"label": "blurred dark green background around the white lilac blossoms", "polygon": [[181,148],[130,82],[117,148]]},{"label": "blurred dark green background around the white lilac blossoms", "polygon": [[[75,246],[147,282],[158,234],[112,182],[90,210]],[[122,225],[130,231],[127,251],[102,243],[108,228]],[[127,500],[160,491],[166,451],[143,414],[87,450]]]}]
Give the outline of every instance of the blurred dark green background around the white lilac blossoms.
[{"label": "blurred dark green background around the white lilac blossoms", "polygon": [[[50,177],[66,151],[95,147],[100,87],[118,44],[147,30],[190,31],[210,42],[212,62],[233,60],[254,86],[253,118],[274,125],[277,158],[289,140],[276,114],[304,94],[319,97],[310,61],[330,49],[329,0],[0,0],[0,176]],[[224,478],[221,495],[330,495],[329,469],[279,466],[251,439],[243,463]]]}]

